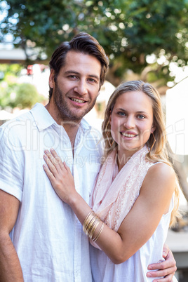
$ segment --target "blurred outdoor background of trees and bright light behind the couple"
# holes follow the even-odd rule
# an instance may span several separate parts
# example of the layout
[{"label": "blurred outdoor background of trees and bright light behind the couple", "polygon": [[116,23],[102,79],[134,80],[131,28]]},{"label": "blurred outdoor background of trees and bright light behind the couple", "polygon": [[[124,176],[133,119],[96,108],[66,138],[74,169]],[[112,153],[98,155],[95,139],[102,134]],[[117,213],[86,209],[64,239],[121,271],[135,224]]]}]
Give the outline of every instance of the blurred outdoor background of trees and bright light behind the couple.
[{"label": "blurred outdoor background of trees and bright light behind the couple", "polygon": [[0,125],[48,102],[48,61],[62,41],[88,32],[109,57],[107,81],[86,119],[100,130],[121,81],[142,79],[163,101],[169,155],[184,216],[168,232],[176,277],[188,281],[188,0],[0,1]]}]

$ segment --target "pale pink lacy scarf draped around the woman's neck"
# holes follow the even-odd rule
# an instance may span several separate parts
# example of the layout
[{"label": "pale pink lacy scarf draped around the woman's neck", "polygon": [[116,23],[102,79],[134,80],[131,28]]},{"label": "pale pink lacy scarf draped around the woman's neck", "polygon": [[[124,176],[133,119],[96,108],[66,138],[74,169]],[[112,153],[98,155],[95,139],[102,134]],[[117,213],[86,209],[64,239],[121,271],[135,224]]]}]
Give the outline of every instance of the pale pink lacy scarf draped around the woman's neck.
[{"label": "pale pink lacy scarf draped around the woman's neck", "polygon": [[[146,146],[135,152],[119,172],[114,150],[100,169],[90,206],[114,231],[133,207],[147,170],[153,165],[145,159],[147,152]],[[93,241],[90,243],[99,248]]]}]

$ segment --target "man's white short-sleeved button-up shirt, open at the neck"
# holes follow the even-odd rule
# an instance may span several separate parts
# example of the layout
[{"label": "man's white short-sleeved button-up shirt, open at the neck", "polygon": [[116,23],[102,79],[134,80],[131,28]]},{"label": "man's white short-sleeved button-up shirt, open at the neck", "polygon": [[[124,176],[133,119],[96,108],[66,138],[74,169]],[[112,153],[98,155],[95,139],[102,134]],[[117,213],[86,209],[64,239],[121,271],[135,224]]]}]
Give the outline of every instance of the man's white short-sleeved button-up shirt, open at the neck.
[{"label": "man's white short-sleeved button-up shirt, open at the neck", "polygon": [[82,120],[72,146],[65,129],[40,104],[0,128],[0,189],[20,201],[11,239],[25,282],[92,281],[88,237],[53,190],[43,170],[43,151],[53,147],[89,202],[100,168],[100,133]]}]

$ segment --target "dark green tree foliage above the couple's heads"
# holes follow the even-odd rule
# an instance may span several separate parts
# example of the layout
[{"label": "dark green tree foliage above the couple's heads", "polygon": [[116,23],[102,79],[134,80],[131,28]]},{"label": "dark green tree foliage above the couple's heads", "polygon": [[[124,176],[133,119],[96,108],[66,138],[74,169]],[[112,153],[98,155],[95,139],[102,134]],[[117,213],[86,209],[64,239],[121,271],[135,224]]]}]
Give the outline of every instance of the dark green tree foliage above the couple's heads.
[{"label": "dark green tree foliage above the couple's heads", "polygon": [[[154,54],[150,80],[169,79],[170,62],[187,65],[187,2],[8,0],[1,37],[13,34],[16,46],[25,50],[28,45],[38,47],[38,57],[42,58],[43,52],[49,57],[62,41],[74,34],[88,32],[105,48],[114,77],[122,78],[126,69],[140,74],[148,65],[146,56]],[[166,62],[158,64],[161,54]]]}]

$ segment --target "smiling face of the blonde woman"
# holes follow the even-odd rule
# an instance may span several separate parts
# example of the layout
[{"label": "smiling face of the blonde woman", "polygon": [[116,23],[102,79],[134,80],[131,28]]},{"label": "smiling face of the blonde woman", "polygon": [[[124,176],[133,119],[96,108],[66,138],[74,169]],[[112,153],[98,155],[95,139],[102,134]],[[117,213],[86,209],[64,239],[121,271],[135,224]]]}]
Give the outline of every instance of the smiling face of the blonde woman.
[{"label": "smiling face of the blonde woman", "polygon": [[116,100],[110,124],[119,153],[132,156],[155,130],[152,99],[141,91],[123,93]]}]

